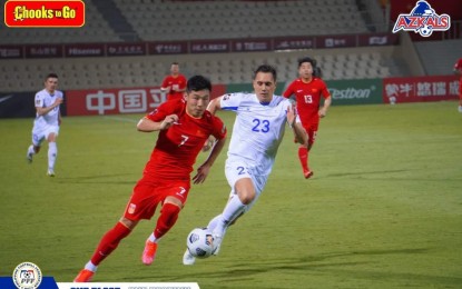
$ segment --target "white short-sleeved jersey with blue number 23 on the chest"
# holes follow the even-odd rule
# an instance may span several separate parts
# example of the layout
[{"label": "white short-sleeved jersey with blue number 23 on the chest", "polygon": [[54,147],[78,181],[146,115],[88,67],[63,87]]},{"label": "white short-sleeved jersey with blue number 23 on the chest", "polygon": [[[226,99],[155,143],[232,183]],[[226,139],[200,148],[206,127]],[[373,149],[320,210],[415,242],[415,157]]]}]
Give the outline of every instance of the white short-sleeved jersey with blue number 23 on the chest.
[{"label": "white short-sleeved jersey with blue number 23 on the chest", "polygon": [[220,107],[237,113],[229,142],[228,160],[244,160],[255,173],[272,171],[277,149],[284,137],[291,102],[278,96],[262,104],[255,93],[228,93]]}]

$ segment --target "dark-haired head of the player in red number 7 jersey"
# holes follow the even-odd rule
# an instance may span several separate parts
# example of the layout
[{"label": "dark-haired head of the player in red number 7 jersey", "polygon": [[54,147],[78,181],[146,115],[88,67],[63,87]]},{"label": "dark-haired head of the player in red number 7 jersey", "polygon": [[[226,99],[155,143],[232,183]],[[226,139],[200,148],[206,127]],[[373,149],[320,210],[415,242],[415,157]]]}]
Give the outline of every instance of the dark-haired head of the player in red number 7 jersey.
[{"label": "dark-haired head of the player in red number 7 jersey", "polygon": [[210,102],[212,83],[203,76],[194,76],[186,83],[186,111],[188,114],[200,118]]}]

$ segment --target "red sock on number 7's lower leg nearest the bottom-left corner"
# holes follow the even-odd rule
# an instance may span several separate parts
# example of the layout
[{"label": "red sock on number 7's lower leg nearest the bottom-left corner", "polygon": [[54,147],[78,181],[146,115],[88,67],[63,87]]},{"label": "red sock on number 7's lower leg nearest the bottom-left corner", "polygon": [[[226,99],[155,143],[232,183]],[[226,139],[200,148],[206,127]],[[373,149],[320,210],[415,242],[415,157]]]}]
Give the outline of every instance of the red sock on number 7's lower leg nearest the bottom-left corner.
[{"label": "red sock on number 7's lower leg nearest the bottom-left corner", "polygon": [[99,245],[96,248],[94,256],[91,257],[91,262],[98,266],[102,260],[106,259],[106,257],[116,250],[121,239],[127,237],[130,232],[130,229],[125,227],[121,222],[117,222],[112,229],[102,236],[101,241],[99,241]]}]

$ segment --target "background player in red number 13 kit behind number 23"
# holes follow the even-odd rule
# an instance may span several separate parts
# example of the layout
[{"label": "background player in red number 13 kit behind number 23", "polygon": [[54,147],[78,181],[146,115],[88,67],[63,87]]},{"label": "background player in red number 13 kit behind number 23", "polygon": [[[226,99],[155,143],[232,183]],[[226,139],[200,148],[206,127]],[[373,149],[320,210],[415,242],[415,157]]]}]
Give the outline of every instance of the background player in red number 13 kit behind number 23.
[{"label": "background player in red number 13 kit behind number 23", "polygon": [[[303,175],[306,179],[313,176],[308,167],[308,152],[316,139],[320,118],[327,113],[332,103],[331,93],[326,83],[315,76],[316,61],[309,57],[298,60],[298,78],[295,79],[284,91],[284,97],[295,96],[297,102],[298,116],[302,124],[308,133],[308,143],[301,143],[298,148],[298,159],[302,163]],[[321,107],[321,97],[324,98],[324,104]]]}]

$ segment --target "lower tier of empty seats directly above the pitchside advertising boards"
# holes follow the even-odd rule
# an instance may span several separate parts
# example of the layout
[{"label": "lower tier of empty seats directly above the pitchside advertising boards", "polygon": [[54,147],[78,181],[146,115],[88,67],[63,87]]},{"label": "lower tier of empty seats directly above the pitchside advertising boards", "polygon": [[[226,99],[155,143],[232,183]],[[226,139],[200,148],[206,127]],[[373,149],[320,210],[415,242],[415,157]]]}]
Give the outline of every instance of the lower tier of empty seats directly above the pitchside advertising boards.
[{"label": "lower tier of empty seats directly above the pitchside advertising boards", "polygon": [[214,83],[249,82],[259,63],[275,64],[278,80],[296,77],[297,59],[309,54],[317,59],[326,80],[390,76],[382,63],[392,60],[393,47],[342,48],[293,52],[205,53],[111,58],[60,58],[2,60],[2,91],[33,90],[43,74],[55,71],[62,89],[159,86],[173,61],[181,63],[186,76],[203,73]]}]

